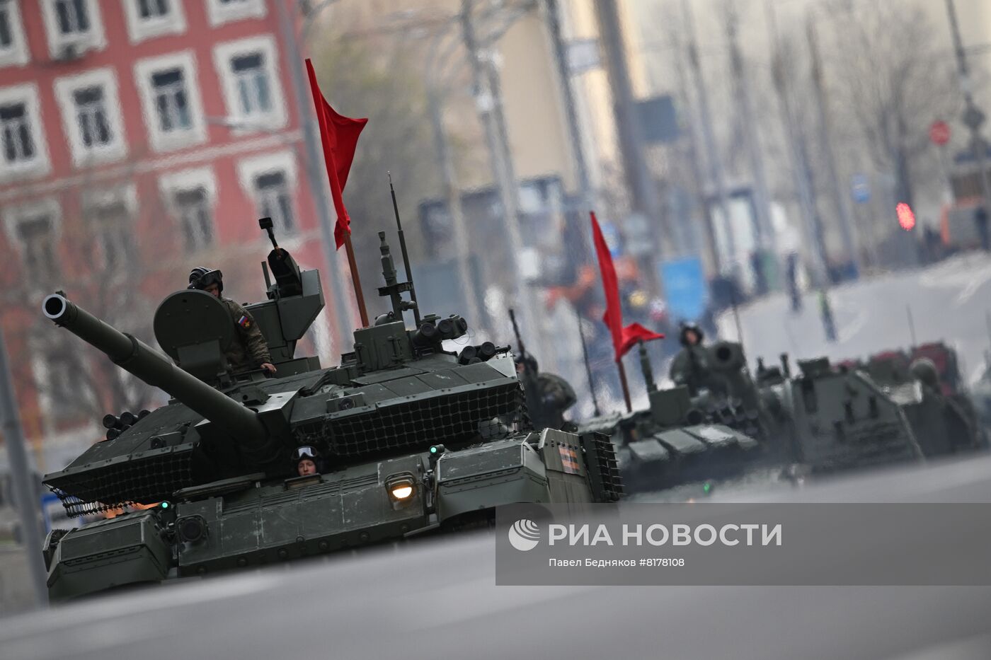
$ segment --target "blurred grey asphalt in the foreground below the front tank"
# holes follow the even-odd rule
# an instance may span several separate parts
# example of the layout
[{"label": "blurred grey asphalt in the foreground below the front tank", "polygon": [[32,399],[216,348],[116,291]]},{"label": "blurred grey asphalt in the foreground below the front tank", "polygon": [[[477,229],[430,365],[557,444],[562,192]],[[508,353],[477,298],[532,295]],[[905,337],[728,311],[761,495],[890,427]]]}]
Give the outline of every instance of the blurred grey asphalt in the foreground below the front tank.
[{"label": "blurred grey asphalt in the foreground below the front tank", "polygon": [[[991,457],[742,498],[987,502]],[[447,537],[58,606],[0,621],[0,657],[991,657],[991,588],[496,587],[494,553]]]}]

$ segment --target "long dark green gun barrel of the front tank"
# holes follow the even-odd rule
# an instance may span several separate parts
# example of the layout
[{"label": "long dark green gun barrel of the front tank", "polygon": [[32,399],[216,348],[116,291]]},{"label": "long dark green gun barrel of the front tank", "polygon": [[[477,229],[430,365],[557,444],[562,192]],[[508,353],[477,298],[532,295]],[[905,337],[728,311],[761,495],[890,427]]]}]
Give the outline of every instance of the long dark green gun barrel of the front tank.
[{"label": "long dark green gun barrel of the front tank", "polygon": [[210,421],[223,424],[239,442],[251,445],[266,439],[268,434],[257,413],[182,371],[144,342],[104,323],[58,293],[45,298],[42,310],[55,325],[99,349],[121,369],[161,387]]}]

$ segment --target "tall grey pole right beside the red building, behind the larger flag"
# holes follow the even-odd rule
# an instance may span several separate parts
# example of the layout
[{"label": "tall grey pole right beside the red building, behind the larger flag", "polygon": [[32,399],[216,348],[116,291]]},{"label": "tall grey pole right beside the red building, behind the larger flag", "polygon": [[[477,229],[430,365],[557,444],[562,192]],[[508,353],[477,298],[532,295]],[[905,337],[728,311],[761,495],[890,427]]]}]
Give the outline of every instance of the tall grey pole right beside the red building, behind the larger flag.
[{"label": "tall grey pole right beside the red building, behind the larger flag", "polygon": [[303,84],[305,74],[303,73],[302,51],[296,39],[295,22],[285,5],[286,3],[281,0],[275,2],[275,11],[278,13],[278,26],[282,33],[282,43],[285,44],[285,57],[289,64],[289,80],[296,101],[296,113],[299,125],[303,130],[303,146],[306,148],[306,180],[309,183],[313,203],[318,214],[324,261],[330,271],[328,275],[330,275],[330,288],[334,296],[334,315],[337,317],[337,332],[334,334],[337,335],[338,342],[334,348],[338,353],[347,353],[345,346],[357,324],[351,314],[351,305],[344,293],[344,276],[337,265],[336,243],[334,242],[335,221],[330,214],[331,205],[327,197],[327,175],[320,171],[323,166],[323,158],[318,151],[320,135],[315,118],[306,111],[306,108],[311,106],[311,101],[308,97],[308,88]]}]

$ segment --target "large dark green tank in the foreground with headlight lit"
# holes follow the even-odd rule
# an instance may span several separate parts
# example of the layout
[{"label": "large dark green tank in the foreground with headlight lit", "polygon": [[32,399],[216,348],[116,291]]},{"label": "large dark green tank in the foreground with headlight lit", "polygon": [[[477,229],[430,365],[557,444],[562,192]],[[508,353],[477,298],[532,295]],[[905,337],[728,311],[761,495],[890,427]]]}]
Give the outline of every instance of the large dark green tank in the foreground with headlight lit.
[{"label": "large dark green tank in the foreground with headlight lit", "polygon": [[[354,351],[330,369],[294,356],[323,293],[318,273],[300,271],[274,237],[268,299],[248,309],[278,378],[231,373],[232,323],[209,293],[177,291],[156,312],[156,337],[176,364],[63,294],[45,299],[56,325],[172,397],[140,418],[121,415],[130,424],[108,415],[112,439],[46,476],[72,516],[126,509],[48,535],[52,600],[472,526],[504,503],[619,497],[608,440],[533,429],[508,347],[445,350],[466,321],[420,318],[380,236],[379,293],[392,311],[356,330]],[[303,445],[326,460],[321,474],[296,476],[290,456]]]}]

